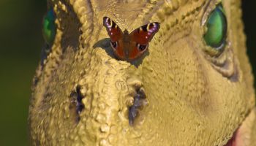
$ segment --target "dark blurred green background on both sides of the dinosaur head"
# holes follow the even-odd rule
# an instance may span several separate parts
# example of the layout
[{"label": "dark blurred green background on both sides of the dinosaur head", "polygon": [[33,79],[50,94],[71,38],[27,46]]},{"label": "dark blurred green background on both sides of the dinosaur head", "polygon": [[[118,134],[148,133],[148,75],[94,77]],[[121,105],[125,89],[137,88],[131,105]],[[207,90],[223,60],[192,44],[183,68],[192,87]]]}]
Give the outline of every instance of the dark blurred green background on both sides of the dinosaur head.
[{"label": "dark blurred green background on both sides of the dinosaur head", "polygon": [[[250,61],[256,70],[256,1],[244,1]],[[0,0],[0,145],[29,145],[31,80],[39,63],[46,0]]]}]

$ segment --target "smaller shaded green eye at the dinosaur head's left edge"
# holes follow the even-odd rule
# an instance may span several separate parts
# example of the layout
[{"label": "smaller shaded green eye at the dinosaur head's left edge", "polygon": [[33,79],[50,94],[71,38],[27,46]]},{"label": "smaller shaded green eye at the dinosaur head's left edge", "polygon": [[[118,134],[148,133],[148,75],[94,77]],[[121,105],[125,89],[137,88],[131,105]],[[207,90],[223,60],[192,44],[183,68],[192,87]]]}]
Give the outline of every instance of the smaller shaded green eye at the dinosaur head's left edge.
[{"label": "smaller shaded green eye at the dinosaur head's left edge", "polygon": [[48,45],[53,43],[53,39],[56,35],[55,19],[53,9],[50,9],[42,22],[42,34]]}]

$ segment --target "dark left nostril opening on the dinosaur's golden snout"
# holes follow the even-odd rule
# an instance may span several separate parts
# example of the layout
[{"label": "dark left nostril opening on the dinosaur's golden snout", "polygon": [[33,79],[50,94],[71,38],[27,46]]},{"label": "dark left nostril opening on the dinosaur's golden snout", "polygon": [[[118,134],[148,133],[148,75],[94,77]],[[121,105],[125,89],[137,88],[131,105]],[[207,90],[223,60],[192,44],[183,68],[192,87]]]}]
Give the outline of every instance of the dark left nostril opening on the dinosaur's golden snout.
[{"label": "dark left nostril opening on the dinosaur's golden snout", "polygon": [[75,91],[72,91],[72,93],[70,94],[71,96],[71,103],[70,103],[70,110],[75,110],[76,113],[76,118],[75,120],[77,122],[80,121],[80,113],[83,111],[83,109],[85,108],[85,105],[83,104],[82,100],[84,98],[83,94],[81,93],[81,87],[78,85],[75,88]]}]

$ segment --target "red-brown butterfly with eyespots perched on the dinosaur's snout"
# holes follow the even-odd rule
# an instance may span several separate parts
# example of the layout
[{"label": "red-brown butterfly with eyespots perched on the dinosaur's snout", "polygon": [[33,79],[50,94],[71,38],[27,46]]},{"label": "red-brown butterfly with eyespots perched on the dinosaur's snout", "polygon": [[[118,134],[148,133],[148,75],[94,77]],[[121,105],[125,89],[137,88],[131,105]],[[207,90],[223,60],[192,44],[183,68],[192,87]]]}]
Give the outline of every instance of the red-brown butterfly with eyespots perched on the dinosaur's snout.
[{"label": "red-brown butterfly with eyespots perched on the dinosaur's snout", "polygon": [[148,23],[129,34],[127,29],[121,31],[121,28],[108,17],[103,18],[103,26],[108,31],[114,55],[123,61],[134,61],[143,55],[148,50],[148,42],[160,28],[158,22]]}]

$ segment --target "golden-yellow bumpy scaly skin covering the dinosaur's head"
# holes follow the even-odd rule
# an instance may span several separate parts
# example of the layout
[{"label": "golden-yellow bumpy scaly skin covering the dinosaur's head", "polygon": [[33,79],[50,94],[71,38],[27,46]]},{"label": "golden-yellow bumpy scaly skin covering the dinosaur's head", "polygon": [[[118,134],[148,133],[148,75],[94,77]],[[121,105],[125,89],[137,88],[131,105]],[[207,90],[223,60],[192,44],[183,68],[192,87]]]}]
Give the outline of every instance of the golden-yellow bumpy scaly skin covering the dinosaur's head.
[{"label": "golden-yellow bumpy scaly skin covering the dinosaur's head", "polygon": [[[225,51],[211,57],[203,40],[203,23],[217,2],[49,0],[58,30],[34,77],[31,144],[208,146],[233,137],[227,145],[256,145],[241,1],[222,1]],[[161,28],[146,56],[130,64],[113,57],[103,16],[123,30],[154,21]],[[139,91],[146,99],[129,125]]]}]

